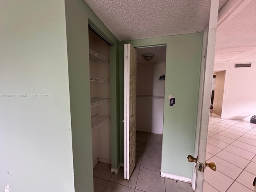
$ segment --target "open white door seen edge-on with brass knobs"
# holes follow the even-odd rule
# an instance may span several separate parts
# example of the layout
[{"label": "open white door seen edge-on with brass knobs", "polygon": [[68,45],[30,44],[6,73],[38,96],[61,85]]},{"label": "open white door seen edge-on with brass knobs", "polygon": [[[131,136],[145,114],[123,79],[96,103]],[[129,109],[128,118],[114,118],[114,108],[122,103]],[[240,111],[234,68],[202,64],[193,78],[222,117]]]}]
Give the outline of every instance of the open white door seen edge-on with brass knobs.
[{"label": "open white door seen edge-on with brass knobs", "polygon": [[195,192],[202,192],[202,186],[204,181],[203,171],[206,166],[210,166],[209,164],[206,164],[205,156],[208,122],[210,115],[218,7],[219,0],[211,0],[209,25],[204,29],[203,35],[200,90],[198,98],[198,118],[194,151],[194,157],[196,159],[193,160],[190,158],[190,160],[193,161],[194,164],[192,188]]}]

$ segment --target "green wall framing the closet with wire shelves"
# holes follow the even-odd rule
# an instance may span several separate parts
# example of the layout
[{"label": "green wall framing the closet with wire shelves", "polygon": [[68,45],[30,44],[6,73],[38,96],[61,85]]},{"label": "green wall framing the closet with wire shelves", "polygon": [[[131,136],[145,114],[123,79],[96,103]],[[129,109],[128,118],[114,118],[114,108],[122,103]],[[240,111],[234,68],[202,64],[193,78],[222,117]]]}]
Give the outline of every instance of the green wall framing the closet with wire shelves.
[{"label": "green wall framing the closet with wire shelves", "polygon": [[119,42],[83,0],[65,0],[75,190],[93,191],[88,22],[110,41],[112,168],[119,154]]}]

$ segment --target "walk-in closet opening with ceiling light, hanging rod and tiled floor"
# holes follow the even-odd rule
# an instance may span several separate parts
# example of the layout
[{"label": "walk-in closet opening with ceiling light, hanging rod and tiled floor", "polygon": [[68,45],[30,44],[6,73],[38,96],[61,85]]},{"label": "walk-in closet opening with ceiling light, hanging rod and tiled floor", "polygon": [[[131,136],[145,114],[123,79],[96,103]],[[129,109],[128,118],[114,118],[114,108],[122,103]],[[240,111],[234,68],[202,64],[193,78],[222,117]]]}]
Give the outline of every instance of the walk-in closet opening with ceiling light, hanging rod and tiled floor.
[{"label": "walk-in closet opening with ceiling light, hanging rod and tiled floor", "polygon": [[136,166],[160,170],[166,45],[136,48],[136,51]]}]

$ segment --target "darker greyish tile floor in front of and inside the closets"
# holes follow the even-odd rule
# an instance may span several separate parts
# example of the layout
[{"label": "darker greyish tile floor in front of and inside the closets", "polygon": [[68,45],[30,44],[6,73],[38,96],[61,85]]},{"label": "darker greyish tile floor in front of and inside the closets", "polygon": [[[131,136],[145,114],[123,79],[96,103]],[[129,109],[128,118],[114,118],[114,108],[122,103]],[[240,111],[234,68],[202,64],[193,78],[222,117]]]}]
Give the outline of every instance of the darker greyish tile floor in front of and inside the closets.
[{"label": "darker greyish tile floor in front of and inside the closets", "polygon": [[94,192],[193,192],[191,184],[160,176],[162,135],[136,133],[136,167],[130,180],[124,169],[110,173],[110,165],[99,162],[93,170]]}]

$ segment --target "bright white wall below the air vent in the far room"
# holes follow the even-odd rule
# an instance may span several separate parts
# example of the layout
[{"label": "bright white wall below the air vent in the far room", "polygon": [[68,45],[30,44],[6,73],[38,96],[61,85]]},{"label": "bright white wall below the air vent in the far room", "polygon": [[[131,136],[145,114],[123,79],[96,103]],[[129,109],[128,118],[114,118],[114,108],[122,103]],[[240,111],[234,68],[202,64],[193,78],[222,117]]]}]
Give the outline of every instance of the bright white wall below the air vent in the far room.
[{"label": "bright white wall below the air vent in the far room", "polygon": [[[244,119],[256,114],[256,66],[234,68],[234,64],[214,64],[214,71],[226,70],[222,118]],[[226,93],[228,92],[228,93]]]}]

